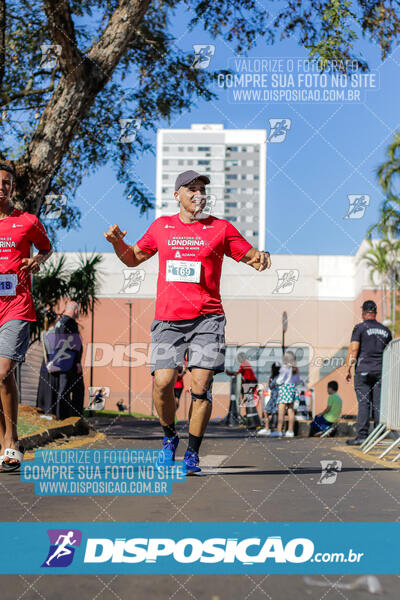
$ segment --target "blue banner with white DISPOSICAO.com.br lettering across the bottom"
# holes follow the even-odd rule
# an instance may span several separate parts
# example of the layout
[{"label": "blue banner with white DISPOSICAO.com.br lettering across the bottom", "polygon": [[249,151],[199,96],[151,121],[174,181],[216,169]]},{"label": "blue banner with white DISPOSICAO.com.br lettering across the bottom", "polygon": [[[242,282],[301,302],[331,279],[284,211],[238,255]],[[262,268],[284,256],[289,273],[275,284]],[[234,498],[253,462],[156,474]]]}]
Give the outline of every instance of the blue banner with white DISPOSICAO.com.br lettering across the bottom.
[{"label": "blue banner with white DISPOSICAO.com.br lettering across the bottom", "polygon": [[0,573],[400,574],[399,537],[400,523],[0,523]]}]

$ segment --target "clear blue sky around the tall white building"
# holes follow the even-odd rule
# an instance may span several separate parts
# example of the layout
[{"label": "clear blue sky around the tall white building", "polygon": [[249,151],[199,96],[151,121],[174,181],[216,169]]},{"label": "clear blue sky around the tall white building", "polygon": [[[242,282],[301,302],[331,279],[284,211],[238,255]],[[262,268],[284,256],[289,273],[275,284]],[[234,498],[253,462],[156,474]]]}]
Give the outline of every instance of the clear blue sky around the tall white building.
[{"label": "clear blue sky around the tall white building", "polygon": [[[213,68],[227,68],[234,58],[233,46],[213,41],[200,29],[185,32],[185,21],[174,23],[177,45],[185,52],[192,44],[214,43]],[[267,147],[267,250],[289,254],[354,254],[367,228],[375,223],[383,199],[376,169],[385,160],[385,151],[399,129],[398,98],[400,51],[384,63],[379,49],[361,42],[364,57],[377,73],[378,89],[361,92],[361,102],[296,103],[229,101],[225,90],[218,99],[199,101],[190,112],[174,117],[170,125],[189,128],[191,123],[223,123],[225,128],[267,128],[268,119],[291,119],[291,128],[282,143]],[[303,57],[306,52],[294,40],[267,46],[260,39],[250,58]],[[127,115],[129,116],[129,115]],[[155,148],[155,134],[146,133]],[[135,174],[155,193],[155,154],[137,161]],[[361,219],[345,219],[349,194],[370,196]],[[135,242],[154,219],[154,210],[141,216],[129,204],[111,167],[86,177],[74,204],[82,211],[81,228],[59,232],[60,251],[110,251],[103,237],[110,223],[128,230],[127,241]]]}]

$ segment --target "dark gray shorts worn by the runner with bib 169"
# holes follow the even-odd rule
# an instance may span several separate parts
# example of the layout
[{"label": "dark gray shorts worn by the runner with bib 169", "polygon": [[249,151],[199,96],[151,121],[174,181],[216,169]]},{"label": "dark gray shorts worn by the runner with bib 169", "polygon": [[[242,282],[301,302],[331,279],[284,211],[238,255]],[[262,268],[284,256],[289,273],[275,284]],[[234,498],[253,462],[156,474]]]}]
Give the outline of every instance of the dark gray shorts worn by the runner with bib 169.
[{"label": "dark gray shorts worn by the runner with bib 169", "polygon": [[225,367],[225,315],[202,315],[185,321],[153,321],[151,360],[157,369],[183,365],[188,350],[189,369],[209,369],[220,373]]}]

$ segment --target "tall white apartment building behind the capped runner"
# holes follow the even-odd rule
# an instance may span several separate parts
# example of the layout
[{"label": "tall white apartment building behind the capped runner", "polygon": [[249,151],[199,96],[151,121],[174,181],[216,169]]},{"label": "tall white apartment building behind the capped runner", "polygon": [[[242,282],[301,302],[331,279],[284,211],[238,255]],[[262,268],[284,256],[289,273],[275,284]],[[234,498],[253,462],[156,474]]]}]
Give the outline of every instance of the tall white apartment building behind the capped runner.
[{"label": "tall white apartment building behind the capped runner", "polygon": [[193,169],[211,180],[205,210],[227,219],[265,250],[266,139],[265,129],[224,129],[222,124],[159,129],[156,218],[177,212],[175,179]]}]

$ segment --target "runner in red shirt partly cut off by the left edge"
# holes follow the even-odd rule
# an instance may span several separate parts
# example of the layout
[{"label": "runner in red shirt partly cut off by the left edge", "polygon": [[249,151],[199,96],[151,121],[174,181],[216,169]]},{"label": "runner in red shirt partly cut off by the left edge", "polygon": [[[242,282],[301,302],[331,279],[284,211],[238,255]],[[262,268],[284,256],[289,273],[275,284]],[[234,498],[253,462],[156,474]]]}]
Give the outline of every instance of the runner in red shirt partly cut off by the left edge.
[{"label": "runner in red shirt partly cut off by the left edge", "polygon": [[[36,320],[31,273],[52,253],[43,225],[35,215],[13,207],[15,175],[0,163],[0,457],[1,472],[16,471],[23,460],[18,443],[18,388],[14,369],[25,360],[29,323]],[[31,244],[38,254],[31,257]]]}]

